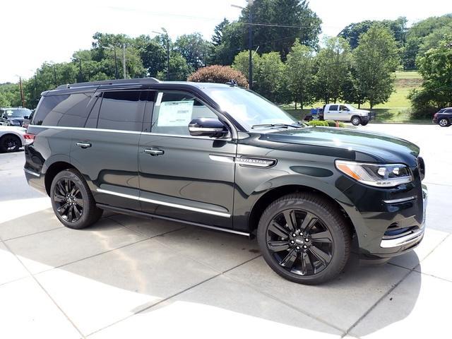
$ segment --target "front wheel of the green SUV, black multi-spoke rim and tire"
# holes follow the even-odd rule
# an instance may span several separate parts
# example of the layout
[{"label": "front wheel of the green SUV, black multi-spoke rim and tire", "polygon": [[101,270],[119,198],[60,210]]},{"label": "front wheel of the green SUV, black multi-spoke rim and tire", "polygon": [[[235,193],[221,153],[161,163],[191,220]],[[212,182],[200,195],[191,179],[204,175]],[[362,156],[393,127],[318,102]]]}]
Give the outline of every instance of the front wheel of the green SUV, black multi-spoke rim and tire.
[{"label": "front wheel of the green SUV, black multi-spoke rim and tire", "polygon": [[[287,215],[291,221],[283,225]],[[350,256],[350,229],[343,215],[316,194],[289,194],[271,203],[261,216],[257,235],[270,268],[295,283],[325,283],[343,270]]]}]

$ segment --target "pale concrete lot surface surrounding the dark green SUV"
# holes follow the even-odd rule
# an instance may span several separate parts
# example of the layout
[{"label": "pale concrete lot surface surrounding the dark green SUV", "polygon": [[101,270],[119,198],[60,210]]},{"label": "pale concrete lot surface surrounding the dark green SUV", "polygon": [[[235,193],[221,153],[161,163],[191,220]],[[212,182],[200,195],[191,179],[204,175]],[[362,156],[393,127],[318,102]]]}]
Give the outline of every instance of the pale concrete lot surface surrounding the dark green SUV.
[{"label": "pale concrete lot surface surrounding the dark green SUV", "polygon": [[427,233],[321,286],[273,273],[256,241],[105,214],[69,230],[0,154],[0,338],[445,338],[452,332],[452,128],[369,124],[427,163]]}]

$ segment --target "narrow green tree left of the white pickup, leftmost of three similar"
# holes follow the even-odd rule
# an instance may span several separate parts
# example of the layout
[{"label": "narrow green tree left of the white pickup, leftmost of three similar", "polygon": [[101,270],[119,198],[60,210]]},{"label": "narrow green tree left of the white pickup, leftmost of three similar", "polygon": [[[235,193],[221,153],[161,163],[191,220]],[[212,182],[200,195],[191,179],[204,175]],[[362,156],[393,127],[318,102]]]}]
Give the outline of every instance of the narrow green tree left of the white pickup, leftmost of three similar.
[{"label": "narrow green tree left of the white pickup, leftmost of three similar", "polygon": [[295,40],[292,49],[287,54],[285,76],[290,99],[295,102],[295,109],[297,109],[297,102],[299,102],[301,109],[305,105],[311,105],[314,102],[312,88],[314,55],[313,50],[300,44],[299,40]]}]

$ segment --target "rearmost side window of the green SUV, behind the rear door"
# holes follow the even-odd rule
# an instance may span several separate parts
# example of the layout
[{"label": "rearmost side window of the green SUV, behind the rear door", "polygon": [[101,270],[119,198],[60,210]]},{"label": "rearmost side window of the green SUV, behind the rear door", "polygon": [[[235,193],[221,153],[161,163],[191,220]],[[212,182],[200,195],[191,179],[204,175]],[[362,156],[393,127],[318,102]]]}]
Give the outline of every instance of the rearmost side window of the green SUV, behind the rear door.
[{"label": "rearmost side window of the green SUV, behind the rear door", "polygon": [[42,97],[32,124],[83,127],[88,117],[92,93],[73,93]]}]

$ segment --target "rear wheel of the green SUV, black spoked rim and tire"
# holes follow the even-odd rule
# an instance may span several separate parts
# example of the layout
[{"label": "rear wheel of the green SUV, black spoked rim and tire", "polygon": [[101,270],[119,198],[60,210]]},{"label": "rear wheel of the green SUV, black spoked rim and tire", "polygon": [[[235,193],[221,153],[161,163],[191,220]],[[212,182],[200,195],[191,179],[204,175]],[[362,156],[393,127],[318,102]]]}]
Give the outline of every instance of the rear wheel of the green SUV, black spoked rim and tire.
[{"label": "rear wheel of the green SUV, black spoked rim and tire", "polygon": [[75,230],[93,225],[102,216],[88,184],[76,169],[59,172],[50,186],[52,208],[59,221]]}]

